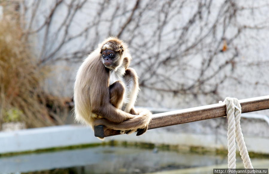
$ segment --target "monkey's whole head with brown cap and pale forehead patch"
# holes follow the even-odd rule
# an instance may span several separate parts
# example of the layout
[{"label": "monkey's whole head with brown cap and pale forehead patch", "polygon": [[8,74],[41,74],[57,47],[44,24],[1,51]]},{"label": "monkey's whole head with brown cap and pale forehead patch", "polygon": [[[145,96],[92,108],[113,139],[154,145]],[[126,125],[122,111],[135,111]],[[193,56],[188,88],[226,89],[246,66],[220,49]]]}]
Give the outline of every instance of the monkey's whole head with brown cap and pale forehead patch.
[{"label": "monkey's whole head with brown cap and pale forehead patch", "polygon": [[124,45],[118,39],[106,42],[101,48],[101,61],[105,67],[116,69],[123,61]]}]

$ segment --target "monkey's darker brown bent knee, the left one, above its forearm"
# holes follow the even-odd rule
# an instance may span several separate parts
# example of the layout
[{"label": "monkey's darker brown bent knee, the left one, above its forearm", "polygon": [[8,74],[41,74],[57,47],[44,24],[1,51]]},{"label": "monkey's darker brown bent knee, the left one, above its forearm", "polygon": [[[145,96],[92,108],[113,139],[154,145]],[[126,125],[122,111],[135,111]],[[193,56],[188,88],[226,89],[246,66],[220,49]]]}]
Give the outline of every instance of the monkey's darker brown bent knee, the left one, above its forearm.
[{"label": "monkey's darker brown bent knee, the left one, above its forearm", "polygon": [[121,81],[116,81],[109,86],[110,103],[118,109],[122,107],[124,91],[124,84]]}]

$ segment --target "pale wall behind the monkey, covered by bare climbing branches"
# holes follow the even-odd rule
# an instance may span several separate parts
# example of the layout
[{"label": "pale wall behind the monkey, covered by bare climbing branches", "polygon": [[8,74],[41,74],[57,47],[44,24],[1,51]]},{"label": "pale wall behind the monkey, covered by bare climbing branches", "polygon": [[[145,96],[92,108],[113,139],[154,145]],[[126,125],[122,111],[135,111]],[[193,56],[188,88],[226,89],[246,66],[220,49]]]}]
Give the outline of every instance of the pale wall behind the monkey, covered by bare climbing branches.
[{"label": "pale wall behind the monkey, covered by bare climbing branches", "polygon": [[[33,1],[26,2],[26,4],[31,5]],[[74,22],[71,24],[68,32],[70,36],[74,36],[80,33],[80,31],[83,30],[87,24],[95,23],[98,20],[101,21],[100,25],[98,24],[97,26],[90,28],[87,35],[83,35],[66,44],[57,52],[57,55],[51,57],[51,60],[53,60],[55,57],[65,58],[66,54],[73,51],[79,52],[81,50],[85,50],[84,54],[88,54],[97,46],[98,42],[101,42],[109,35],[116,35],[118,33],[124,22],[130,16],[131,10],[135,5],[135,1],[122,2],[114,0],[110,1],[109,4],[106,4],[106,6],[104,6],[106,10],[102,11],[100,9],[103,7],[101,2],[103,1],[86,1],[82,9],[80,9],[79,12],[74,16]],[[171,14],[168,17],[171,17],[171,20],[167,21],[165,26],[161,28],[159,26],[161,25],[159,22],[162,22],[164,18],[164,14],[162,13],[165,11],[161,10],[161,8],[163,5],[163,9],[166,9],[166,5],[168,4],[163,4],[165,1],[157,1],[156,3],[150,3],[148,7],[145,7],[148,2],[149,1],[141,2],[139,5],[139,8],[141,9],[134,13],[133,22],[130,22],[121,36],[121,39],[130,43],[130,51],[133,55],[133,62],[131,63],[131,66],[136,69],[138,75],[140,76],[140,81],[148,78],[148,80],[145,81],[146,86],[151,86],[151,83],[155,82],[156,80],[159,81],[159,83],[156,83],[156,85],[151,86],[150,88],[141,88],[142,90],[139,93],[137,105],[166,108],[190,108],[217,103],[218,100],[224,100],[224,98],[227,96],[244,99],[268,94],[267,74],[269,70],[269,42],[268,39],[265,38],[269,37],[269,32],[266,29],[267,25],[262,24],[263,21],[266,21],[268,16],[268,6],[263,5],[266,4],[266,1],[253,0],[248,1],[247,3],[245,1],[236,1],[236,7],[238,9],[242,8],[245,10],[240,12],[238,11],[238,13],[236,13],[238,17],[233,19],[230,23],[227,21],[226,24],[224,24],[225,21],[222,23],[223,18],[227,16],[221,16],[218,20],[218,25],[221,27],[216,28],[214,31],[209,30],[208,37],[206,37],[204,42],[194,46],[194,48],[190,49],[189,52],[181,51],[193,44],[197,38],[200,38],[200,36],[207,32],[207,29],[214,24],[214,21],[218,16],[218,10],[220,10],[220,13],[222,13],[221,5],[224,3],[224,1],[210,2],[211,9],[210,13],[208,13],[209,16],[206,15],[206,11],[202,11],[202,17],[197,20],[198,22],[195,23],[194,27],[190,29],[191,31],[185,32],[185,34],[182,36],[186,41],[182,45],[179,45],[177,50],[172,52],[170,52],[171,49],[168,48],[174,48],[173,45],[177,44],[174,43],[175,38],[179,37],[183,32],[182,28],[188,24],[188,20],[192,15],[194,15],[193,13],[195,13],[195,10],[197,10],[199,3],[196,1],[186,1],[182,4],[183,8],[180,9],[179,7],[177,8],[177,5],[180,6],[182,1],[174,1],[172,6],[174,5],[175,8],[169,9]],[[51,26],[48,30],[49,37],[46,42],[47,44],[45,45],[46,50],[43,56],[49,55],[51,52],[53,52],[53,50],[57,48],[57,45],[61,42],[61,36],[63,35],[64,31],[60,31],[59,37],[55,37],[54,33],[67,14],[68,3],[69,1],[66,1],[66,4],[62,4],[59,8],[57,8],[54,18],[51,21]],[[49,13],[49,9],[53,7],[53,4],[54,1],[40,1],[40,8],[37,10],[38,13],[35,16],[33,29],[37,29],[40,27],[40,25],[42,25],[42,22],[45,21],[44,16]],[[115,10],[117,7],[119,7],[119,9]],[[178,9],[180,10],[177,11]],[[113,19],[113,21],[111,21],[110,18],[114,13],[113,10],[115,10],[116,17]],[[142,16],[139,16],[139,12],[143,10],[145,11],[142,13]],[[26,16],[30,18],[31,7],[29,7],[28,11],[29,12],[26,13]],[[96,17],[98,16],[97,13],[100,11],[101,16]],[[203,17],[203,15],[206,17]],[[136,21],[139,21],[139,25],[137,26],[135,23]],[[113,22],[112,25],[111,22]],[[237,50],[238,55],[236,59],[233,60],[233,64],[221,69],[221,71],[214,76],[212,80],[206,82],[204,86],[197,86],[197,88],[194,88],[192,91],[187,91],[186,93],[179,92],[176,94],[174,92],[168,92],[170,88],[177,90],[181,89],[182,86],[189,86],[193,79],[199,77],[200,68],[203,66],[203,62],[206,62],[209,59],[212,51],[215,51],[214,49],[221,50],[221,47],[215,47],[218,45],[218,42],[221,42],[221,39],[223,39],[221,38],[221,34],[224,32],[222,26],[228,24],[229,26],[227,26],[224,36],[226,39],[229,39],[236,34],[238,27],[241,27],[242,30],[244,29],[244,26],[248,26],[250,28],[244,30],[240,36],[231,39],[231,43],[228,43],[227,52],[219,53],[218,51],[216,53],[218,56],[215,56],[212,59],[212,65],[210,65],[210,67],[203,72],[205,75],[200,80],[206,79],[211,75],[214,76],[215,74],[212,74],[212,72],[218,69],[218,65],[228,60],[231,57],[231,54]],[[262,25],[262,27],[259,28],[259,25]],[[253,28],[251,28],[251,26],[253,26]],[[257,28],[259,29],[256,29],[255,26],[258,26]],[[137,29],[133,30],[133,28]],[[161,28],[161,31],[159,31],[158,28]],[[175,32],[169,33],[173,29],[175,29]],[[157,30],[157,33],[159,32],[159,34],[154,33],[154,30]],[[200,31],[203,31],[201,35],[199,35]],[[45,29],[40,30],[39,33],[33,35],[32,37],[32,42],[35,45],[37,57],[40,57],[38,55],[43,46],[44,33]],[[159,47],[158,39],[161,40]],[[140,43],[144,43],[145,41],[152,46],[150,48],[140,46]],[[162,52],[159,53],[159,51]],[[145,63],[149,63],[146,60],[151,60],[152,55],[154,57],[158,53],[159,57],[156,59],[156,62],[162,61],[168,54],[171,54],[171,56],[174,54],[178,55],[178,57],[175,57],[175,62],[172,62],[171,64],[167,62],[168,65],[165,64],[158,67],[158,73],[167,76],[162,80],[158,80],[157,76],[155,76],[157,73],[149,73],[149,69],[156,67],[153,66],[149,68],[148,65],[139,64],[138,62],[138,60],[141,59],[143,62],[145,61]],[[66,61],[64,59],[60,62],[49,63],[48,65],[52,67],[53,72],[46,81],[44,88],[56,95],[72,97],[75,74],[83,58],[76,61],[73,61],[72,59],[70,61]],[[173,65],[177,66],[173,67]],[[209,93],[206,92],[214,88],[212,86],[214,86],[215,82],[221,81],[221,79],[225,76],[227,79],[223,82],[219,82],[217,91]],[[169,79],[168,77],[173,77],[174,83],[166,84],[165,82]],[[182,85],[177,85],[177,83]],[[166,90],[158,91],[152,87],[161,87]]]}]

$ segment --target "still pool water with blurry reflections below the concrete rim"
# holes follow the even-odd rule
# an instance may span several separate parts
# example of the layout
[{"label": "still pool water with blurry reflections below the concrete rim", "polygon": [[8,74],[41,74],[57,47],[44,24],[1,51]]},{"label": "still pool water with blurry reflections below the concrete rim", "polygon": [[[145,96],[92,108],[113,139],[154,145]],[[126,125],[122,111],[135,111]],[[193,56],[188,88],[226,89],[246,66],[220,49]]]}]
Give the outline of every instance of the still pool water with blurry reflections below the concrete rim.
[{"label": "still pool water with blurry reflections below the concrete rim", "polygon": [[156,149],[98,146],[2,157],[0,158],[0,173],[150,173],[226,165],[226,157],[227,155],[201,155]]}]

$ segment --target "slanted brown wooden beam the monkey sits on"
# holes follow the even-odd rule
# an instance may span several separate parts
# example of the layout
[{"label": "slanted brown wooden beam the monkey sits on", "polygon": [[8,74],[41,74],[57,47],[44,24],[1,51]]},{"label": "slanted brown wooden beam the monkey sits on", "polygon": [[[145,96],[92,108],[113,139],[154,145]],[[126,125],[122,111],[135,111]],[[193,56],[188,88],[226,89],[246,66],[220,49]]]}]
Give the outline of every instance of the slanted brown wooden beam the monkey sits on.
[{"label": "slanted brown wooden beam the monkey sits on", "polygon": [[[242,107],[242,113],[269,109],[269,95],[243,99],[239,100],[239,102]],[[225,103],[199,106],[189,109],[154,114],[148,129],[155,129],[159,127],[172,126],[176,124],[225,116]],[[120,134],[118,130],[107,129],[102,125],[95,126],[94,133],[96,137],[109,137]]]}]

